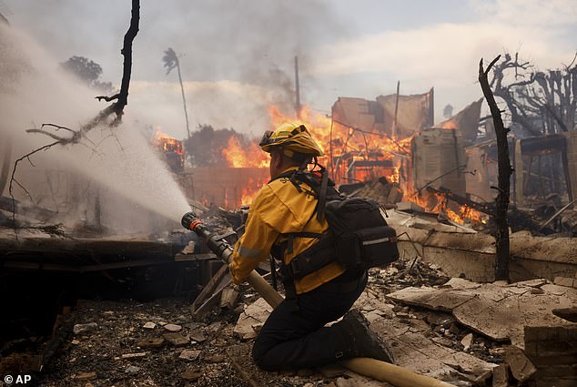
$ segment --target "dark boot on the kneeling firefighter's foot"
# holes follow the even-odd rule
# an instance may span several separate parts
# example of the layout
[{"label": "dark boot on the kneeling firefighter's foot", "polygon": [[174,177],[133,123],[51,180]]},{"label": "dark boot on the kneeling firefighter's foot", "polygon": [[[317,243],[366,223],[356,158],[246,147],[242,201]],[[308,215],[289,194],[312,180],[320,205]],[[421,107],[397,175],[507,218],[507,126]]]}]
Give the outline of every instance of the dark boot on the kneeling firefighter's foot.
[{"label": "dark boot on the kneeling firefighter's foot", "polygon": [[382,362],[395,363],[389,345],[380,340],[377,333],[370,331],[369,321],[357,310],[351,310],[342,321],[333,327],[340,331],[345,349],[338,351],[337,359],[373,358]]}]

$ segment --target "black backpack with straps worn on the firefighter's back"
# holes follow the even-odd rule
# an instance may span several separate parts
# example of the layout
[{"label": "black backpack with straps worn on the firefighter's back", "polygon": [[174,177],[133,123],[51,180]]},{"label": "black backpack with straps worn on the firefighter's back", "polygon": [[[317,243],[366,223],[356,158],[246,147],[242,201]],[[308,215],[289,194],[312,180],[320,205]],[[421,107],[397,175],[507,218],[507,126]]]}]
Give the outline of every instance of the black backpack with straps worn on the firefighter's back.
[{"label": "black backpack with straps worn on the firefighter's back", "polygon": [[320,239],[287,265],[289,276],[294,280],[335,260],[347,270],[368,270],[399,259],[397,234],[387,225],[386,213],[380,204],[373,199],[346,198],[328,175],[325,168],[321,168],[314,172],[297,169],[277,177],[289,179],[299,191],[307,190],[301,187],[301,182],[309,185],[312,192],[308,190],[308,193],[318,199],[317,219],[326,218],[329,223],[329,234],[286,234],[288,243],[283,247],[283,254],[286,249],[292,251],[292,241],[296,237]]}]

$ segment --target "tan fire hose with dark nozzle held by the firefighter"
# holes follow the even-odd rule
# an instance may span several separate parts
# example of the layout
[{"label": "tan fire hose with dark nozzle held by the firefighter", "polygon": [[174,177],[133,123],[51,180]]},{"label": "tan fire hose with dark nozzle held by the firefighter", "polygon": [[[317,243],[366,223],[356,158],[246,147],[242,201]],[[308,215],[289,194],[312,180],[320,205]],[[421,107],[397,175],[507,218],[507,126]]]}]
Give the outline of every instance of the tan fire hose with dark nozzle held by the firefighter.
[{"label": "tan fire hose with dark nozzle held by the firefighter", "polygon": [[[219,238],[218,235],[211,232],[207,226],[202,223],[202,220],[197,218],[194,212],[187,212],[182,217],[181,224],[185,229],[194,231],[199,237],[204,239],[207,242],[208,249],[214,252],[218,258],[226,264],[230,263],[233,248],[226,240]],[[246,280],[271,307],[276,308],[278,304],[284,300],[283,297],[278,294],[278,291],[274,290],[257,271],[252,270]],[[357,372],[360,375],[380,382],[388,382],[396,387],[454,387],[450,383],[441,382],[429,376],[411,372],[398,365],[380,362],[370,358],[349,359],[341,361],[339,364],[352,372]]]}]

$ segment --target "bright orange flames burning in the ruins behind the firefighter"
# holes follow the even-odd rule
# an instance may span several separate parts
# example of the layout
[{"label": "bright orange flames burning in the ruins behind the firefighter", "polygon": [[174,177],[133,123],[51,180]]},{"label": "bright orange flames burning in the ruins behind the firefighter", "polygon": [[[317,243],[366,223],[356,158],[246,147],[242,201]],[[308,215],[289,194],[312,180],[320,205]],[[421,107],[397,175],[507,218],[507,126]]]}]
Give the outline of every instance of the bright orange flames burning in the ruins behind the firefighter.
[{"label": "bright orange flames burning in the ruins behind the firefighter", "polygon": [[[324,156],[319,158],[319,163],[329,169],[331,178],[338,185],[349,182],[348,166],[354,160],[390,160],[389,168],[356,168],[353,181],[385,176],[390,182],[400,184],[404,192],[403,199],[418,204],[427,212],[443,214],[459,224],[466,221],[473,224],[487,222],[488,216],[478,210],[468,206],[451,209],[449,200],[444,195],[430,193],[427,190],[419,193],[412,188],[410,181],[402,181],[401,159],[410,158],[410,142],[415,134],[398,138],[382,132],[363,131],[340,124],[337,120],[333,121],[326,115],[313,112],[307,106],[301,108],[298,116],[283,115],[275,106],[269,106],[268,113],[272,129],[285,122],[304,124],[309,129],[324,152]],[[450,128],[450,125],[444,128]],[[256,142],[242,146],[236,136],[229,138],[228,146],[222,150],[222,154],[227,159],[228,166],[232,168],[268,167],[268,156]],[[249,205],[264,183],[250,178],[246,187],[242,189],[240,205]]]}]

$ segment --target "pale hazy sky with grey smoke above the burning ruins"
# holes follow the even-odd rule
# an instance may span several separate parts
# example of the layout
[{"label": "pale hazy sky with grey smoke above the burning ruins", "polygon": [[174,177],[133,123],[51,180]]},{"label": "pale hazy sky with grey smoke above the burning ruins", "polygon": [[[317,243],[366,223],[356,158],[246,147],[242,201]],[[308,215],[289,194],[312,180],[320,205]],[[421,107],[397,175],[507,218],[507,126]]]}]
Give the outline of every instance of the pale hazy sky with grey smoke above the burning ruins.
[{"label": "pale hazy sky with grey smoke above the burning ruins", "polygon": [[[130,3],[0,0],[0,12],[57,61],[86,56],[117,85]],[[161,60],[172,47],[191,127],[265,130],[269,104],[290,107],[295,55],[301,99],[323,113],[340,96],[394,93],[400,80],[401,94],[435,87],[440,121],[446,104],[457,111],[481,97],[481,57],[519,51],[539,68],[560,67],[575,36],[577,0],[142,0],[127,110],[185,136],[177,75]]]}]

